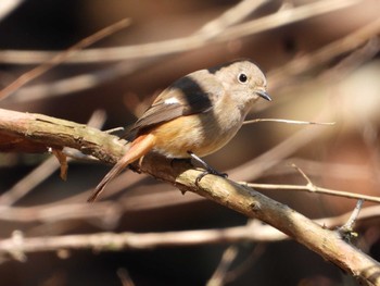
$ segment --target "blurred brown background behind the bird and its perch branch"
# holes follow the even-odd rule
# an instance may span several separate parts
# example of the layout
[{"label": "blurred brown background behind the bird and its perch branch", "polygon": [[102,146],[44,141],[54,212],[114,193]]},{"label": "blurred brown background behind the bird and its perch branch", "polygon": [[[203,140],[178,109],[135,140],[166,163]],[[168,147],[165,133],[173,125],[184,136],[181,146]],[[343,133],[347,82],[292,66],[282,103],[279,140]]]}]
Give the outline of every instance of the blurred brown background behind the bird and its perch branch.
[{"label": "blurred brown background behind the bird and its perch branch", "polygon": [[[50,59],[51,52],[66,50],[122,18],[131,23],[88,48],[97,49],[96,53],[78,51],[2,99],[1,108],[79,123],[94,119],[96,126],[103,129],[125,127],[178,77],[251,58],[266,72],[274,101],[257,104],[250,119],[335,124],[244,125],[206,161],[229,173],[231,179],[306,184],[291,167],[294,163],[318,186],[379,196],[379,11],[378,0],[2,0],[1,88]],[[207,23],[214,25],[205,26]],[[178,40],[165,42],[170,39]],[[126,50],[110,59],[116,54],[107,50],[113,47]],[[110,184],[101,202],[87,206],[86,197],[110,166],[74,159],[63,182],[50,158],[0,154],[1,239],[165,233],[248,223],[233,211],[192,194],[182,196],[167,184],[130,171]],[[311,219],[340,215],[356,203],[305,191],[263,192]],[[380,210],[371,203],[364,207],[370,212],[357,222],[355,243],[378,260]],[[1,253],[0,284],[205,285],[215,282],[212,277],[230,245],[237,250],[232,265],[219,284],[208,285],[330,286],[346,279],[338,268],[294,241],[237,240],[115,252]]]}]

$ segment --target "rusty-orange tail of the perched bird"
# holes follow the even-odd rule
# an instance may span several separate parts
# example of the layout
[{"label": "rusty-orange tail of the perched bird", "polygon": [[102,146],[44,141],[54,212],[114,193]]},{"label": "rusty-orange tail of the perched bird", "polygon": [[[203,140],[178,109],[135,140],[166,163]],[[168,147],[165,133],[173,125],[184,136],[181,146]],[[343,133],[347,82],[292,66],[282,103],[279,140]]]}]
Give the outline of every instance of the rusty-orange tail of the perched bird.
[{"label": "rusty-orange tail of the perched bird", "polygon": [[140,135],[137,137],[130,146],[130,149],[125,153],[125,156],[117,161],[117,163],[111,169],[111,171],[103,177],[103,179],[98,184],[93,192],[87,199],[88,202],[93,202],[99,195],[104,190],[106,184],[115,176],[117,176],[128,164],[135,162],[136,160],[148,153],[155,144],[155,136],[152,134]]}]

